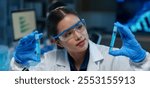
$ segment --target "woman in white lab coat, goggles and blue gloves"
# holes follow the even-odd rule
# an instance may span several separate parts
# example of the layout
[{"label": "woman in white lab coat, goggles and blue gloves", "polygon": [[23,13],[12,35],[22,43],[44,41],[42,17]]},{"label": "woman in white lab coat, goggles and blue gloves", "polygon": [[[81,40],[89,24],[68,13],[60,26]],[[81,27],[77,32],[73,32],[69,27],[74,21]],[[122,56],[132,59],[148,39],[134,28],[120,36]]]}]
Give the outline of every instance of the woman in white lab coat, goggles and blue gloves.
[{"label": "woman in white lab coat, goggles and blue gloves", "polygon": [[40,63],[35,53],[37,32],[19,41],[11,61],[12,70],[52,70],[52,71],[112,71],[150,70],[150,54],[135,39],[131,31],[119,22],[115,23],[123,41],[119,50],[109,51],[109,47],[97,45],[89,40],[84,19],[74,10],[56,2],[48,14],[48,35],[64,49],[46,52]]}]

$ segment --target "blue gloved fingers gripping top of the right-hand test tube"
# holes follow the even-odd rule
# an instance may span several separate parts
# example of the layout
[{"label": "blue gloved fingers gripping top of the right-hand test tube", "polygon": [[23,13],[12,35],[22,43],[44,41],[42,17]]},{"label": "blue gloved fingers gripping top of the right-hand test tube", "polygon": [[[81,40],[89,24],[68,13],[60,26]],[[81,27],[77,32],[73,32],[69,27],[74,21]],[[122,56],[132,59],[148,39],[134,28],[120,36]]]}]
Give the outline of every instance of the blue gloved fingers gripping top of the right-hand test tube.
[{"label": "blue gloved fingers gripping top of the right-hand test tube", "polygon": [[130,40],[134,38],[134,35],[127,26],[124,26],[119,22],[114,23],[114,25],[117,26],[117,30],[122,40]]}]

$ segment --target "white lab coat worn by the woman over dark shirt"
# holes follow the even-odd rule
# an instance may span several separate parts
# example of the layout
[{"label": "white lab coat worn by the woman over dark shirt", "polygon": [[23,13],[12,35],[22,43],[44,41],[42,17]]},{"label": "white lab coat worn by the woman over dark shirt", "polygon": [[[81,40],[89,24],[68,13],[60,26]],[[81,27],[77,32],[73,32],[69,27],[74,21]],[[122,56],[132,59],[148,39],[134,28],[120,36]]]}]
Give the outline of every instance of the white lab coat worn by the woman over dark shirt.
[{"label": "white lab coat worn by the woman over dark shirt", "polygon": [[[129,58],[124,56],[114,57],[108,53],[109,47],[97,45],[89,41],[89,63],[88,71],[131,71],[131,70],[149,70],[150,54],[147,53],[145,61],[141,63],[132,63]],[[11,61],[12,70],[22,70],[19,64]],[[67,51],[65,49],[52,50],[41,57],[41,62],[36,66],[31,66],[29,70],[36,71],[70,71]]]}]

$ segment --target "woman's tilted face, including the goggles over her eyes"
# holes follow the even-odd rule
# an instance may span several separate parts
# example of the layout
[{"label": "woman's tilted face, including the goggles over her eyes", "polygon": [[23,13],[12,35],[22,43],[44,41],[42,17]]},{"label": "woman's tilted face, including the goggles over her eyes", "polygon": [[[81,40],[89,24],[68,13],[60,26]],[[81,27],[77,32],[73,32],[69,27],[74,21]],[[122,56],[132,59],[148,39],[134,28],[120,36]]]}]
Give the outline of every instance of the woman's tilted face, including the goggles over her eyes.
[{"label": "woman's tilted face, including the goggles over her eyes", "polygon": [[[74,25],[74,27],[72,27]],[[67,49],[68,52],[84,52],[88,47],[88,34],[85,25],[73,14],[68,14],[57,25],[58,34],[65,31],[60,37],[59,46]]]}]

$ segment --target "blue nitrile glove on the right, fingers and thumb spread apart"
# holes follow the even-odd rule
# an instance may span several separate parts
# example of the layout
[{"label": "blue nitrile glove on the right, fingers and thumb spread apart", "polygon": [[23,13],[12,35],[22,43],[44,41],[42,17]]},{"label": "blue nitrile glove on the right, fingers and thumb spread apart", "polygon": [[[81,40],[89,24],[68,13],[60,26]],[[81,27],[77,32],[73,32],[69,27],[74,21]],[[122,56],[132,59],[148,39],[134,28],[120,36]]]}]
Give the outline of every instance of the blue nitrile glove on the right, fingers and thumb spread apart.
[{"label": "blue nitrile glove on the right, fingers and thumb spread apart", "polygon": [[111,50],[109,54],[113,56],[127,56],[131,59],[132,62],[141,62],[146,57],[146,51],[141,47],[138,41],[135,39],[135,36],[132,34],[130,29],[127,26],[120,24],[119,22],[115,23],[117,30],[122,39],[122,47],[119,50]]}]

